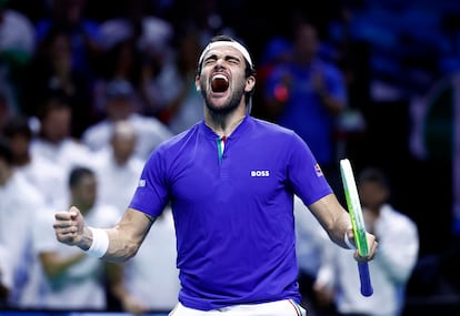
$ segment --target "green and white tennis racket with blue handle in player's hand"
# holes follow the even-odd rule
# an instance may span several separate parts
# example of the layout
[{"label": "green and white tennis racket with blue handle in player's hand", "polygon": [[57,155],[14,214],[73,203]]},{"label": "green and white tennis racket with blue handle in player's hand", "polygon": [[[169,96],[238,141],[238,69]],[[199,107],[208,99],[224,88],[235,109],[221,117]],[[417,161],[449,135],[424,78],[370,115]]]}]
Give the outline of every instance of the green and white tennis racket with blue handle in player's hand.
[{"label": "green and white tennis racket with blue handle in player's hand", "polygon": [[[354,241],[358,246],[360,256],[366,257],[369,254],[368,239],[366,238],[366,225],[362,217],[361,202],[358,195],[357,184],[354,182],[353,170],[350,161],[342,159],[340,161],[340,173],[343,182],[343,190],[347,200],[348,211],[350,213],[351,224],[353,226]],[[373,288],[369,274],[368,263],[358,262],[359,278],[361,283],[361,294],[371,296]]]}]

